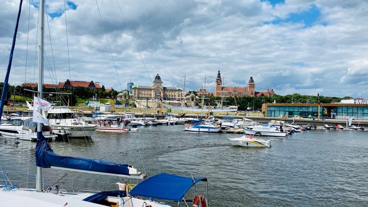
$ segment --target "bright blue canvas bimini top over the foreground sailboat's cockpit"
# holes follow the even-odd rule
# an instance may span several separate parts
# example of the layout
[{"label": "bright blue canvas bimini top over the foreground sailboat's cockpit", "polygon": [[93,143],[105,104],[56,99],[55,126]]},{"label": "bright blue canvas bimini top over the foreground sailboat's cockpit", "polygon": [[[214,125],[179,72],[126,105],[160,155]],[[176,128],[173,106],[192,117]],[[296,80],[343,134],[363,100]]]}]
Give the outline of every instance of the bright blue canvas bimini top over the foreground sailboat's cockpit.
[{"label": "bright blue canvas bimini top over the foreground sailboat's cockpit", "polygon": [[[207,178],[195,178],[195,183]],[[161,173],[140,182],[130,194],[157,199],[181,201],[184,194],[195,184],[192,178]]]}]

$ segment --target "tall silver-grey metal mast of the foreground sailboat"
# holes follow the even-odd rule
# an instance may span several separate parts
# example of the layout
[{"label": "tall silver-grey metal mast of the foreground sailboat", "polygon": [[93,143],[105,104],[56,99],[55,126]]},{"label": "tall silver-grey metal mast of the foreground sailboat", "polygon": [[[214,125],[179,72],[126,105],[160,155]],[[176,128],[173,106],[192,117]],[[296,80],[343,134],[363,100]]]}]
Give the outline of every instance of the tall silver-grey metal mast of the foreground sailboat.
[{"label": "tall silver-grey metal mast of the foreground sailboat", "polygon": [[[38,70],[39,70],[39,76],[38,76],[38,98],[43,98],[43,28],[44,28],[44,19],[45,19],[45,0],[40,0],[40,18],[39,18],[39,31],[38,31]],[[42,114],[42,109],[38,109],[38,113]],[[37,133],[42,133],[42,123],[37,123]],[[40,166],[36,166],[36,190],[38,192],[41,192],[41,174],[42,174],[42,168]]]}]

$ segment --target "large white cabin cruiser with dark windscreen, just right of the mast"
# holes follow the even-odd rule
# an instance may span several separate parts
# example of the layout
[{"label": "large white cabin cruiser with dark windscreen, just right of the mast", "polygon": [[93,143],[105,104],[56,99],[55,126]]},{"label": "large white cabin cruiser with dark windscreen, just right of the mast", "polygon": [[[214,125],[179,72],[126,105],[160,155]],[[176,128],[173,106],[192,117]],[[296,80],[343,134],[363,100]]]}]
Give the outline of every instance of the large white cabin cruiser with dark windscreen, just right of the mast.
[{"label": "large white cabin cruiser with dark windscreen, just right of the mast", "polygon": [[79,120],[67,106],[52,106],[45,113],[55,134],[67,133],[71,138],[85,138],[91,137],[97,127],[96,124]]}]

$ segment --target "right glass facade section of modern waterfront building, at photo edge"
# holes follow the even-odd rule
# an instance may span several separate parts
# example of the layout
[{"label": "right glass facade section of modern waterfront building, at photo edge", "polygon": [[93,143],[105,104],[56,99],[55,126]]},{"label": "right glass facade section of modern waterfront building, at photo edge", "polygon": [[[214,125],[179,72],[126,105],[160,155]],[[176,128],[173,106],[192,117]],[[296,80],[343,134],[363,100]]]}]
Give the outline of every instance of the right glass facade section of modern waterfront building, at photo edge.
[{"label": "right glass facade section of modern waterfront building, at photo edge", "polygon": [[353,116],[355,120],[368,120],[368,106],[337,106],[336,119]]}]

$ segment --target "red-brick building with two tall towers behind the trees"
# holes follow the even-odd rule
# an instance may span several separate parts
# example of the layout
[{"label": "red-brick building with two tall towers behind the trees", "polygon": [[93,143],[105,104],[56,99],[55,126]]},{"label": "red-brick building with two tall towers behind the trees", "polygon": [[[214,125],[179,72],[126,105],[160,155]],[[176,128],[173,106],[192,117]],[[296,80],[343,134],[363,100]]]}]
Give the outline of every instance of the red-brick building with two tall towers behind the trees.
[{"label": "red-brick building with two tall towers behind the trees", "polygon": [[273,96],[275,92],[273,89],[267,89],[265,92],[255,91],[255,83],[253,77],[251,77],[248,81],[247,87],[224,87],[223,81],[221,79],[220,70],[217,73],[216,78],[216,86],[215,86],[215,95],[216,96]]}]

